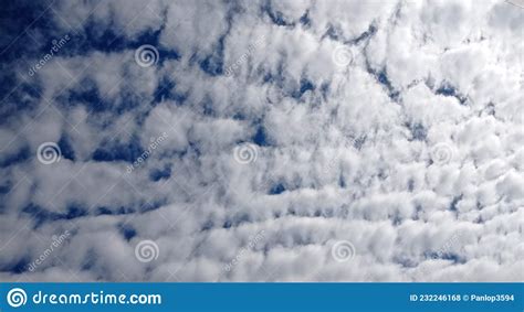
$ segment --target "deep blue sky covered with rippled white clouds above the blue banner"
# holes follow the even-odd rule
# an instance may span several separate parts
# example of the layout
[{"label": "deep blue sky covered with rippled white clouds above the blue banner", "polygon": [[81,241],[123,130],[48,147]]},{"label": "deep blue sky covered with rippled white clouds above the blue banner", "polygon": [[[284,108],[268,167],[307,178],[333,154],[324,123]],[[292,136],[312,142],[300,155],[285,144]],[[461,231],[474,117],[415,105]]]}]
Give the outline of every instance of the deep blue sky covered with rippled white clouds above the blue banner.
[{"label": "deep blue sky covered with rippled white clouds above the blue banner", "polygon": [[3,1],[0,281],[522,281],[520,1]]}]

